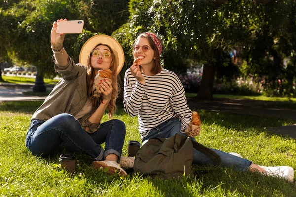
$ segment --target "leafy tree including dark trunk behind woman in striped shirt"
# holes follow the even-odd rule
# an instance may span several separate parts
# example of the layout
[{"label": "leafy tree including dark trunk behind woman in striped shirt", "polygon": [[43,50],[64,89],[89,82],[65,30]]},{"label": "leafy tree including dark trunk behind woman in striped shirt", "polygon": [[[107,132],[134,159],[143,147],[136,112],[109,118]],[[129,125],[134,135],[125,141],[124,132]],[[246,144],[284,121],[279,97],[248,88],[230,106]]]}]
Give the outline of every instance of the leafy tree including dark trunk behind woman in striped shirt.
[{"label": "leafy tree including dark trunk behind woman in striped shirt", "polygon": [[[199,99],[211,100],[215,62],[222,51],[250,34],[253,2],[239,0],[215,4],[208,0],[131,0],[130,18],[113,33],[131,53],[131,44],[140,32],[153,31],[164,41],[164,66],[175,72],[186,70],[186,60],[204,65]],[[138,6],[140,5],[140,6]],[[127,58],[128,59],[128,58]],[[131,65],[131,60],[127,61]]]}]

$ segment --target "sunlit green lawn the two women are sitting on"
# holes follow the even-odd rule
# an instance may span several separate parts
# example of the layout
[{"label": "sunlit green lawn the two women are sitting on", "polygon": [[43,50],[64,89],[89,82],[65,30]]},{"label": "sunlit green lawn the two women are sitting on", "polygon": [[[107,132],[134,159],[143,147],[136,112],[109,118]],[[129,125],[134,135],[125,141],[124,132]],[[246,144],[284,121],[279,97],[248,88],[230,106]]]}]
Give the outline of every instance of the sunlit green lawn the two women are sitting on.
[{"label": "sunlit green lawn the two women are sitting on", "polygon": [[[296,194],[296,183],[213,166],[195,166],[195,176],[181,180],[108,175],[94,170],[91,158],[83,154],[76,154],[76,173],[70,176],[60,168],[58,154],[42,159],[31,155],[25,147],[30,118],[41,103],[0,104],[0,196],[293,197]],[[200,111],[200,116],[203,130],[196,139],[202,144],[240,153],[256,164],[288,165],[296,169],[296,140],[266,130],[293,122],[206,111]],[[122,107],[114,118],[126,124],[123,147],[126,156],[127,142],[140,141],[137,118],[129,117]]]}]

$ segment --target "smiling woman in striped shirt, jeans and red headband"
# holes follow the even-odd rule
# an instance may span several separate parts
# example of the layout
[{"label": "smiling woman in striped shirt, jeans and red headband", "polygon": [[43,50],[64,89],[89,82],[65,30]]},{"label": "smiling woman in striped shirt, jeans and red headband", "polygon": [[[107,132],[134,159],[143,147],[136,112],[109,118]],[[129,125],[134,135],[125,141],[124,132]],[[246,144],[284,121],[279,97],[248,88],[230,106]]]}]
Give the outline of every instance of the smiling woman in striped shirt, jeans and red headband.
[{"label": "smiling woman in striped shirt, jeans and red headband", "polygon": [[[125,72],[124,110],[138,116],[143,143],[153,137],[170,137],[184,132],[192,119],[185,91],[177,75],[160,65],[161,40],[151,32],[141,33],[134,44],[134,59],[139,59]],[[197,130],[200,130],[198,128]],[[195,138],[192,138],[195,140]],[[222,166],[240,171],[261,172],[293,181],[291,167],[263,167],[235,155],[212,149],[222,160]],[[213,164],[203,153],[194,149],[193,164]]]}]

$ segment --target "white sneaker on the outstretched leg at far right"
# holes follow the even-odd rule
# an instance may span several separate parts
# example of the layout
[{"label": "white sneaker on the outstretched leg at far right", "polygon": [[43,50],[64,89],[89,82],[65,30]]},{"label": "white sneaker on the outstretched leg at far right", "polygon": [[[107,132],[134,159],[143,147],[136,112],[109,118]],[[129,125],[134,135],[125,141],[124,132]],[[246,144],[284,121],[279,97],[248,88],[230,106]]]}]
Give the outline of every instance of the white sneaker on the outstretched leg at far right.
[{"label": "white sneaker on the outstretched leg at far right", "polygon": [[277,176],[284,177],[286,180],[293,182],[294,181],[294,170],[292,167],[288,166],[278,166],[278,167],[264,167],[259,166],[266,171],[267,176]]}]

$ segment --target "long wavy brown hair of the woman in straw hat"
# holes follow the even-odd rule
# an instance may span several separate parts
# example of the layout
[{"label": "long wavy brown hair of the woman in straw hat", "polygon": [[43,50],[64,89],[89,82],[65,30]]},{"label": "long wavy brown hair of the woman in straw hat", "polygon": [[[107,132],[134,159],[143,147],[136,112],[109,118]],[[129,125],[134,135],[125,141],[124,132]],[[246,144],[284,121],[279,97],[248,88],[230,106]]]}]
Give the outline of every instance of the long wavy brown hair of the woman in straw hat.
[{"label": "long wavy brown hair of the woman in straw hat", "polygon": [[[107,46],[110,49],[111,52],[111,57],[112,57],[112,61],[110,64],[110,70],[112,71],[112,87],[113,87],[113,91],[112,91],[112,96],[110,99],[110,102],[107,106],[107,110],[108,110],[108,118],[111,119],[114,112],[116,111],[116,99],[118,96],[118,83],[117,83],[117,67],[118,65],[116,64],[116,57],[112,51],[112,49],[106,45],[106,44],[98,44],[94,47],[94,49],[97,46]],[[93,95],[93,85],[94,85],[94,80],[95,80],[95,69],[92,67],[91,62],[90,62],[90,58],[91,58],[91,53],[89,54],[88,57],[88,61],[87,61],[87,87],[88,87],[88,96],[92,102],[93,107],[98,107],[99,104],[103,101],[103,95],[101,95],[99,98],[95,97]]]}]

